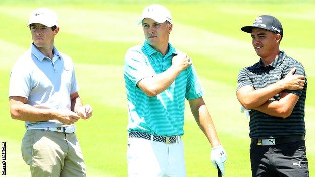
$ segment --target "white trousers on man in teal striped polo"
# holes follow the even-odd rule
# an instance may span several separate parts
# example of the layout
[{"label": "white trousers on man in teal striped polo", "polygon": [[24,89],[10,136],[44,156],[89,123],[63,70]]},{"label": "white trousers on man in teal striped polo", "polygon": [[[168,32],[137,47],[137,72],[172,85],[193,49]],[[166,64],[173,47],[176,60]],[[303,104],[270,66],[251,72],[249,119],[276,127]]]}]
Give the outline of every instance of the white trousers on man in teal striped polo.
[{"label": "white trousers on man in teal striped polo", "polygon": [[185,177],[184,145],[165,144],[143,138],[128,138],[127,147],[128,176]]}]

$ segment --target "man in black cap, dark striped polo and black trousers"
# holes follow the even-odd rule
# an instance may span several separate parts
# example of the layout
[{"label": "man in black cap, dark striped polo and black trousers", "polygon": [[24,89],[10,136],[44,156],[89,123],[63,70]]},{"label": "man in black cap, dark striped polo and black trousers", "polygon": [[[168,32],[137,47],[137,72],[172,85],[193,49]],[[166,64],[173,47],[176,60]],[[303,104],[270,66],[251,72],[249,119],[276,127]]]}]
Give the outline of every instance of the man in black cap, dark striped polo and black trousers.
[{"label": "man in black cap, dark striped polo and black trousers", "polygon": [[237,99],[250,115],[252,176],[309,176],[304,105],[307,80],[302,64],[279,50],[281,23],[256,18],[250,33],[259,62],[238,75]]}]

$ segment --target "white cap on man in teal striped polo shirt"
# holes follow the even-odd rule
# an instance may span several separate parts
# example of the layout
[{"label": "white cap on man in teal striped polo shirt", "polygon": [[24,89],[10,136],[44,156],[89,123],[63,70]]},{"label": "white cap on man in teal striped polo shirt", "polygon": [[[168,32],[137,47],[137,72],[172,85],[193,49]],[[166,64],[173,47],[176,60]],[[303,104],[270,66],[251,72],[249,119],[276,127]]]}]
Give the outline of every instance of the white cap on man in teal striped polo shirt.
[{"label": "white cap on man in teal striped polo shirt", "polygon": [[172,16],[170,11],[162,5],[154,4],[144,8],[141,19],[138,21],[138,25],[141,24],[142,20],[145,18],[153,19],[158,23],[163,23],[165,21],[172,23]]}]

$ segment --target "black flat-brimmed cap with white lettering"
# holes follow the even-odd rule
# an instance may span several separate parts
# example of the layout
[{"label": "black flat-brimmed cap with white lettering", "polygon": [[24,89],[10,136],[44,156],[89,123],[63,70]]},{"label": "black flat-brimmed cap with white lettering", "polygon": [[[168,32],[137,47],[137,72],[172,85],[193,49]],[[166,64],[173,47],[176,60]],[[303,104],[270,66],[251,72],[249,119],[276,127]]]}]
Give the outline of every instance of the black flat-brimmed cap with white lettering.
[{"label": "black flat-brimmed cap with white lettering", "polygon": [[252,26],[244,26],[241,28],[241,30],[246,33],[251,33],[253,28],[266,29],[276,34],[280,34],[281,39],[283,37],[283,29],[280,21],[270,15],[261,15],[257,17]]}]

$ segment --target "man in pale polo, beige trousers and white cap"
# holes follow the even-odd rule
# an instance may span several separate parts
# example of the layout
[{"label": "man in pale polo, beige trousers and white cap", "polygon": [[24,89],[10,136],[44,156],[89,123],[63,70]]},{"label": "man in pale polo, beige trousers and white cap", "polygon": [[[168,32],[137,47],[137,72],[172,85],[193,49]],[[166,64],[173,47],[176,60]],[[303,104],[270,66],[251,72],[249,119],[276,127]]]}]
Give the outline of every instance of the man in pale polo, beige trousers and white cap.
[{"label": "man in pale polo, beige trousers and white cap", "polygon": [[79,97],[71,58],[54,46],[57,15],[36,9],[28,26],[33,42],[14,64],[9,86],[11,116],[27,129],[23,159],[34,177],[86,176],[74,123],[88,119],[92,108]]}]

